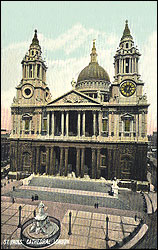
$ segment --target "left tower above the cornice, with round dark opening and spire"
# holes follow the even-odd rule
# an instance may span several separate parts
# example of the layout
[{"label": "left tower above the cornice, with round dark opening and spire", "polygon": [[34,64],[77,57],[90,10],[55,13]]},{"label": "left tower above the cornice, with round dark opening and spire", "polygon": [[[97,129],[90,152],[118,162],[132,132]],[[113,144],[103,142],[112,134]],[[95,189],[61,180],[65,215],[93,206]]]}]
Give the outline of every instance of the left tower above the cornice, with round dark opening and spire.
[{"label": "left tower above the cornice, with round dark opening and spire", "polygon": [[50,101],[51,94],[46,84],[47,66],[41,54],[37,30],[35,30],[29,51],[21,62],[22,80],[16,87],[17,96],[13,100],[13,106],[43,105]]}]

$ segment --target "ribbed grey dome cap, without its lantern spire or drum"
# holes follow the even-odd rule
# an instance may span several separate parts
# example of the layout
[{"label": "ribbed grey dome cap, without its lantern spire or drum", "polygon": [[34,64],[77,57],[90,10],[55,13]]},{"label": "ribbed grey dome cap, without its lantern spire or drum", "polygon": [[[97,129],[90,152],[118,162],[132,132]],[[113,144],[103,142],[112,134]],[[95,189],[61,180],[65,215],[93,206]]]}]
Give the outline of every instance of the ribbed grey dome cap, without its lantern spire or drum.
[{"label": "ribbed grey dome cap, without its lantern spire or drum", "polygon": [[108,73],[97,62],[90,62],[79,74],[77,83],[85,80],[103,80],[110,82]]}]

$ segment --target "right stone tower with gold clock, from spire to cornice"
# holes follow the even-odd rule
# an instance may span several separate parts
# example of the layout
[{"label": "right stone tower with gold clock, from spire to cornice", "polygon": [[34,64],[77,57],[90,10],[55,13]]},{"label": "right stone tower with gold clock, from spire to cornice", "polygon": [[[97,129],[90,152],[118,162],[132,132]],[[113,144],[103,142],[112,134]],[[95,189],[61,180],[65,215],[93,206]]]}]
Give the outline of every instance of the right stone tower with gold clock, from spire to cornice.
[{"label": "right stone tower with gold clock, from spire to cornice", "polygon": [[112,84],[112,97],[118,98],[119,103],[136,104],[143,95],[144,83],[140,80],[138,71],[140,56],[137,46],[134,46],[126,20],[119,48],[114,56],[115,76]]}]

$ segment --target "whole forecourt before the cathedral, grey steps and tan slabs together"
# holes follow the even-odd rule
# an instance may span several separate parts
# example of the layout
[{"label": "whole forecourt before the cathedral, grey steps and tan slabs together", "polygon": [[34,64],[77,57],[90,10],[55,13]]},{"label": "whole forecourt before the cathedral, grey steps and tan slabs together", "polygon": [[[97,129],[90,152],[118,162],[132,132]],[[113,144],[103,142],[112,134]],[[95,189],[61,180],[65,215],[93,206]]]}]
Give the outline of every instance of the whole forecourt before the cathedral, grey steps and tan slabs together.
[{"label": "whole forecourt before the cathedral, grey steps and tan slabs together", "polygon": [[[36,179],[36,182],[41,179]],[[42,179],[40,184],[43,181],[47,183],[46,180],[48,179]],[[119,190],[119,197],[114,198],[108,197],[109,187],[105,186],[105,183],[91,182],[90,188],[87,190],[88,183],[84,182],[82,186],[80,181],[80,186],[83,188],[79,191],[75,181],[68,184],[65,184],[63,180],[61,180],[61,183],[59,180],[58,183],[54,180],[50,181],[51,187],[46,184],[45,186],[24,186],[21,185],[21,181],[14,181],[2,188],[1,243],[7,239],[20,239],[20,229],[18,228],[19,206],[22,206],[23,223],[28,218],[33,217],[33,211],[37,210],[40,200],[44,202],[47,213],[61,222],[59,241],[50,249],[102,249],[108,246],[112,247],[115,242],[121,242],[124,237],[134,231],[140,218],[145,219],[146,224],[151,224],[148,216],[143,212],[143,198],[139,193]],[[65,188],[71,184],[73,189]],[[13,185],[15,191],[12,190]],[[104,187],[106,190],[103,189]],[[95,190],[94,192],[92,188]],[[39,200],[32,201],[31,197],[35,194],[39,196]],[[14,204],[11,202],[12,197],[15,198]],[[99,208],[94,207],[95,202],[99,203]],[[69,236],[70,211],[72,212],[72,235]],[[136,221],[135,215],[138,216]],[[106,216],[109,217],[108,236],[110,240],[108,246],[105,241]],[[150,235],[148,235],[149,237]],[[9,249],[24,249],[24,246],[13,243],[9,246]],[[139,248],[137,247],[137,249]]]}]

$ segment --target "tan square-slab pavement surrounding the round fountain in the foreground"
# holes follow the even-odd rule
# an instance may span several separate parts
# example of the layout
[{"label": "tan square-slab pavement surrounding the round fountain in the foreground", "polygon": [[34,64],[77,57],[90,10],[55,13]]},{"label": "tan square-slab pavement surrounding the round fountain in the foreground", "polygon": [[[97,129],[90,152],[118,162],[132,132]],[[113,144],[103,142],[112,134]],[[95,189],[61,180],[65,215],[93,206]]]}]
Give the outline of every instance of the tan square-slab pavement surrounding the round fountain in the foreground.
[{"label": "tan square-slab pavement surrounding the round fountain in the foreground", "polygon": [[[38,202],[39,203],[39,202]],[[30,205],[24,203],[1,202],[1,241],[11,239],[14,244],[10,245],[10,249],[24,247],[16,245],[14,240],[20,239],[19,223],[19,206],[22,207],[22,223],[28,218],[33,217],[33,211],[37,211],[37,204]],[[47,210],[48,207],[45,207]],[[97,213],[95,211],[70,210],[62,209],[60,216],[61,235],[57,244],[51,246],[51,249],[73,249],[73,248],[106,248],[106,216],[109,217],[108,236],[109,247],[113,246],[116,241],[130,234],[139,224],[139,220],[135,221],[133,217],[118,216],[112,214]],[[69,231],[69,212],[72,213],[72,235],[68,235]],[[49,212],[49,211],[47,211]],[[49,213],[50,214],[50,213]],[[58,216],[58,214],[57,214]],[[59,217],[58,217],[59,218]],[[62,242],[63,240],[63,242]],[[63,244],[67,240],[67,244]],[[1,243],[2,243],[1,242]]]}]

